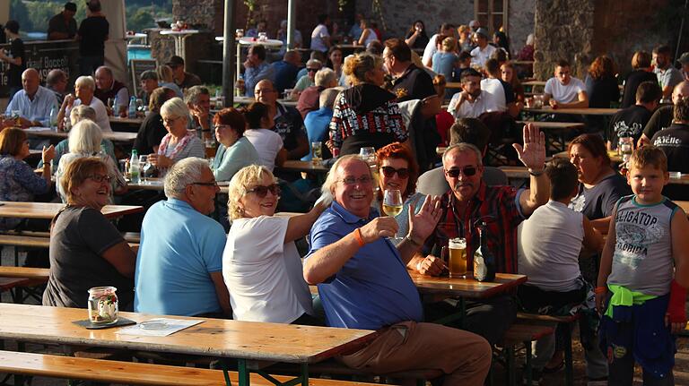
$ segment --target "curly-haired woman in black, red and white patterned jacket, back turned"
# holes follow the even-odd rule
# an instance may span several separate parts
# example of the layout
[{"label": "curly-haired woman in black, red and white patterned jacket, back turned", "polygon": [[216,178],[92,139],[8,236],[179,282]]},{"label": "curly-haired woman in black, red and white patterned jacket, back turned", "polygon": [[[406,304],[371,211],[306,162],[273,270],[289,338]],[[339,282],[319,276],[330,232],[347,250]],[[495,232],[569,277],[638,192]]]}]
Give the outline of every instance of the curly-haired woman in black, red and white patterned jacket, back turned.
[{"label": "curly-haired woman in black, red and white patterned jacket, back turned", "polygon": [[345,74],[353,87],[337,97],[330,121],[328,148],[336,156],[357,154],[372,146],[405,142],[407,132],[395,94],[383,90],[383,61],[379,56],[357,54],[345,60]]}]

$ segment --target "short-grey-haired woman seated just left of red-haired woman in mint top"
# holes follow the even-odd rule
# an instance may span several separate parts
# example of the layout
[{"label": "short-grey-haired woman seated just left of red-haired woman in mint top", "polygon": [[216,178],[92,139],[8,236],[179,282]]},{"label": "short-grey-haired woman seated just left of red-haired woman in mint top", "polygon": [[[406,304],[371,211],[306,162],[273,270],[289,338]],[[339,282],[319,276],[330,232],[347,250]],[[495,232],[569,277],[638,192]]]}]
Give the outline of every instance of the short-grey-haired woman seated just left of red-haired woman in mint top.
[{"label": "short-grey-haired woman seated just left of red-haired woman in mint top", "polygon": [[162,124],[168,133],[162,137],[158,151],[148,156],[154,167],[164,172],[179,159],[205,158],[204,142],[187,130],[189,108],[182,99],[173,98],[162,104]]}]

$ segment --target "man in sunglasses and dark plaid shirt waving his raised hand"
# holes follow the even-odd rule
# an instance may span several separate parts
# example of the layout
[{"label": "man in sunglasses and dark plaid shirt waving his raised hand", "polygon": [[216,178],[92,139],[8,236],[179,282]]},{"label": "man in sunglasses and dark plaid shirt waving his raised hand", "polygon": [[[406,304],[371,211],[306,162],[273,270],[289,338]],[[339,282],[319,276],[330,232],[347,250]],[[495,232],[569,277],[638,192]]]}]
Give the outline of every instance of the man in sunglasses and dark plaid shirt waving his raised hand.
[{"label": "man in sunglasses and dark plaid shirt waving his raised hand", "polygon": [[[550,184],[545,169],[545,135],[536,126],[524,127],[524,146],[513,145],[519,160],[528,167],[530,189],[512,186],[488,186],[483,180],[482,154],[474,145],[459,143],[450,146],[442,156],[442,167],[450,190],[440,199],[443,213],[435,232],[426,240],[423,252],[431,253],[448,244],[449,238],[467,239],[467,266],[473,267],[474,253],[480,245],[475,224],[487,223],[487,244],[495,256],[496,271],[517,273],[517,226],[536,208],[548,201]],[[415,259],[424,259],[417,254]],[[430,257],[426,256],[428,260]],[[438,275],[439,270],[428,271]],[[453,307],[441,303],[438,313],[455,313]],[[512,296],[496,296],[481,303],[467,305],[464,327],[492,344],[501,340],[517,314]]]}]

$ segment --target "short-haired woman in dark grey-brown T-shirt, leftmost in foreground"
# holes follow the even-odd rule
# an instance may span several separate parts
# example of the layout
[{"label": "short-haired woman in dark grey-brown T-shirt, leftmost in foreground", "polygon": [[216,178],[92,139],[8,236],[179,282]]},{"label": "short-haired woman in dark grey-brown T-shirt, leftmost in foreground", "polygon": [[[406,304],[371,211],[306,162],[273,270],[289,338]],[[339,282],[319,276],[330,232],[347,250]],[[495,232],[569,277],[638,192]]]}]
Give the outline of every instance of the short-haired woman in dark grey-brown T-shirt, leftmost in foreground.
[{"label": "short-haired woman in dark grey-brown T-shirt, leftmost in foreground", "polygon": [[108,203],[108,167],[97,158],[74,159],[61,182],[67,206],[50,230],[50,275],[43,305],[86,308],[91,287],[118,288],[120,310],[132,310],[136,253],[100,213]]}]

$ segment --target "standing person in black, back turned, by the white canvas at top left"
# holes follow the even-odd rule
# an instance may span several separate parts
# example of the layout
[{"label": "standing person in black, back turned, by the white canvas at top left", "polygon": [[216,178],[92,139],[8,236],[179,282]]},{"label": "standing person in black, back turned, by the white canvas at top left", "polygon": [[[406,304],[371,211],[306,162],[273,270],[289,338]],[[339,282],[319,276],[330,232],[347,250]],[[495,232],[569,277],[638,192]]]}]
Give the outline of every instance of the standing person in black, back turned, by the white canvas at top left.
[{"label": "standing person in black, back turned, by the white canvas at top left", "polygon": [[92,75],[105,64],[105,40],[109,39],[110,24],[101,12],[99,0],[91,0],[86,6],[86,19],[79,25],[76,39],[79,40],[79,73]]}]

